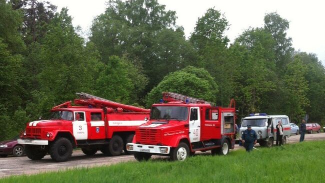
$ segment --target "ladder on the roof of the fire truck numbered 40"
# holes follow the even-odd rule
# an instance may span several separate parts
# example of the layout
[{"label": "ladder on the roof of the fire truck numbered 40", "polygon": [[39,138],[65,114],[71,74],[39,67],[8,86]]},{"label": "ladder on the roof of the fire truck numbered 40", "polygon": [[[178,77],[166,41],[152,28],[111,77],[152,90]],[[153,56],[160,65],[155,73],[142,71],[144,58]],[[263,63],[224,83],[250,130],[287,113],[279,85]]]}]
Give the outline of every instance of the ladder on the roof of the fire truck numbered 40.
[{"label": "ladder on the roof of the fire truck numbered 40", "polygon": [[214,106],[214,103],[212,103],[212,102],[207,102],[202,99],[188,97],[186,95],[173,93],[173,92],[163,92],[162,99],[167,102],[174,102],[174,101],[186,102],[186,99],[187,99],[188,103],[192,103],[192,104],[202,103],[202,104],[210,104],[211,106]]}]

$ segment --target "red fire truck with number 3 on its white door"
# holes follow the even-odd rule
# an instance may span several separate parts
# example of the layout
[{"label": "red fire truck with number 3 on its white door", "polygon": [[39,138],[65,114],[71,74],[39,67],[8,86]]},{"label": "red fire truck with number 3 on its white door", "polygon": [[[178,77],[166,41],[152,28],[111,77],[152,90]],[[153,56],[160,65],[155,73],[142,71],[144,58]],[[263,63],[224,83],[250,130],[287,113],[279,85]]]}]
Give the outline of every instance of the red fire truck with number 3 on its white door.
[{"label": "red fire truck with number 3 on its white door", "polygon": [[31,160],[40,160],[46,153],[57,162],[70,159],[72,148],[81,148],[85,155],[98,150],[108,156],[118,156],[131,142],[135,128],[149,117],[149,109],[119,104],[86,93],[79,99],[51,109],[49,120],[29,122],[18,139],[25,145]]}]

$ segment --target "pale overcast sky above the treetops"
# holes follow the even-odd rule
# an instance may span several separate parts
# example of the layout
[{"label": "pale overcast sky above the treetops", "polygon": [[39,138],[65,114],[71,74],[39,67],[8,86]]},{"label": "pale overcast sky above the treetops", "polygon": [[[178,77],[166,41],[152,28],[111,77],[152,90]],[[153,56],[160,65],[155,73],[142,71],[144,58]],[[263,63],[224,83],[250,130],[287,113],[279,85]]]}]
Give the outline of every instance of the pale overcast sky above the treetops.
[{"label": "pale overcast sky above the treetops", "polygon": [[[89,31],[93,17],[105,10],[106,0],[49,0],[69,9],[73,25]],[[198,17],[214,7],[224,13],[230,27],[226,32],[230,42],[249,27],[263,26],[265,13],[276,11],[287,19],[288,36],[295,50],[315,53],[325,65],[325,2],[322,0],[158,0],[167,10],[176,11],[177,25],[184,27],[186,37],[193,31]]]}]

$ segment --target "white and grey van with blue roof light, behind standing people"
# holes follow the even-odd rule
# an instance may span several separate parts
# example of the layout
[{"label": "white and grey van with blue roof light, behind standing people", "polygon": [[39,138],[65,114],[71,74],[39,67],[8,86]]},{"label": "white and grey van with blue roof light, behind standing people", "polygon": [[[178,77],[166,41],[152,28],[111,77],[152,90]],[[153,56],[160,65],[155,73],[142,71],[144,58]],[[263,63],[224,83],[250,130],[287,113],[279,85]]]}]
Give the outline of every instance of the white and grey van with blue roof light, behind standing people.
[{"label": "white and grey van with blue roof light, behind standing people", "polygon": [[251,129],[256,132],[257,142],[260,146],[273,146],[276,141],[276,125],[278,121],[282,122],[283,139],[282,144],[286,143],[286,139],[290,137],[290,121],[285,115],[267,115],[265,113],[249,114],[241,121],[239,129],[240,136],[247,129],[247,125],[251,125]]}]

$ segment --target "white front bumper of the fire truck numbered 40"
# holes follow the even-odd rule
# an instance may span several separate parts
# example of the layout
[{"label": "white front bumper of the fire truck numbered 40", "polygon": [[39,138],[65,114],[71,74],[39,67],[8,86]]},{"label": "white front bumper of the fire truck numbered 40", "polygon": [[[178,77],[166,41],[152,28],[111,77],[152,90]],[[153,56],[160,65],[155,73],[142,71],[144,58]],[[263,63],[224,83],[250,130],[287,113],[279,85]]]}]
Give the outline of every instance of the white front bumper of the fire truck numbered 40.
[{"label": "white front bumper of the fire truck numbered 40", "polygon": [[141,152],[141,153],[152,153],[152,154],[164,154],[167,155],[170,152],[170,146],[153,146],[127,143],[127,151]]}]

